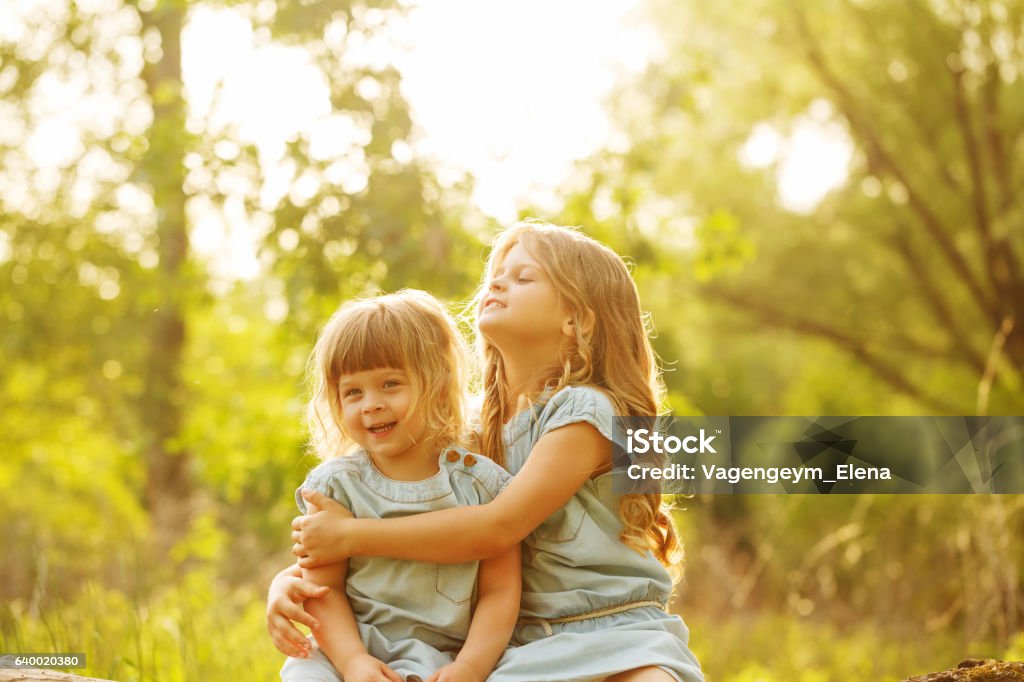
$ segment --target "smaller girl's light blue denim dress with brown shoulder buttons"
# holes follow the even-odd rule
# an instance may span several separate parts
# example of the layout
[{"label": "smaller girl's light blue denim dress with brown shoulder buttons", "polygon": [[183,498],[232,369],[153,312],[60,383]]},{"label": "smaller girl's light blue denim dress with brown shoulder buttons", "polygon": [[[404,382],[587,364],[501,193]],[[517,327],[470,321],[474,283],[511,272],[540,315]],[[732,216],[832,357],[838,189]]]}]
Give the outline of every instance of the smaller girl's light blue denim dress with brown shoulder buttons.
[{"label": "smaller girl's light blue denim dress with brown shoulder buttons", "polygon": [[[420,481],[384,476],[364,451],[328,460],[302,487],[340,502],[357,518],[394,518],[490,502],[509,474],[485,457],[450,446],[439,471]],[[305,501],[295,493],[299,509]],[[476,601],[478,561],[430,563],[383,557],[351,557],[345,593],[367,650],[407,682],[426,680],[455,660],[466,640]],[[340,674],[315,646],[308,658],[289,658],[287,682],[338,682]]]}]

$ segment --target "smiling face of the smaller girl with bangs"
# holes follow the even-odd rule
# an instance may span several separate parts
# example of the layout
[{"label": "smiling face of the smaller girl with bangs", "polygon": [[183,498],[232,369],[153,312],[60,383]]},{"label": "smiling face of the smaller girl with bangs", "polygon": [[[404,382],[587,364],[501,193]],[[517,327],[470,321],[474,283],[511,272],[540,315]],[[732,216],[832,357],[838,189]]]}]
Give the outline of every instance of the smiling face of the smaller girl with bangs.
[{"label": "smiling face of the smaller girl with bangs", "polygon": [[[345,431],[385,475],[416,480],[436,468],[426,442],[412,378],[383,368],[343,374],[338,382]],[[409,478],[409,476],[413,476]]]}]

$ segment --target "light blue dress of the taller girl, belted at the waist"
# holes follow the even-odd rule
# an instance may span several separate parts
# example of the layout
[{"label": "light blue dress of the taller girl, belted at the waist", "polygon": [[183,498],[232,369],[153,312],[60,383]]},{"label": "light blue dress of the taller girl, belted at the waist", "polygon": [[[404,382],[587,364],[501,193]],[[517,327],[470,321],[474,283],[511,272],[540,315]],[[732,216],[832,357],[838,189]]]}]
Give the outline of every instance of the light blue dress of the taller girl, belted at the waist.
[{"label": "light blue dress of the taller girl, belted at the waist", "polygon": [[[585,422],[612,440],[614,415],[600,390],[563,388],[506,424],[509,471],[518,473],[541,436],[562,426]],[[588,480],[523,542],[519,624],[492,682],[603,680],[644,666],[685,682],[703,680],[686,625],[666,611],[668,571],[651,552],[620,540],[622,496],[611,479],[609,473]],[[552,622],[579,615],[585,617]]]}]

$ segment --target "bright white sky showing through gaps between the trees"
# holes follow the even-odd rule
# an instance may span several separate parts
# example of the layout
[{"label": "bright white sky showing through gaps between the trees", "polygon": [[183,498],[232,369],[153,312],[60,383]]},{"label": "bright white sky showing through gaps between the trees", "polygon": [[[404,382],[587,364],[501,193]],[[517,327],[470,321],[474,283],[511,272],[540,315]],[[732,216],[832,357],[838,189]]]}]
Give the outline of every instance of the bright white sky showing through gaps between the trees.
[{"label": "bright white sky showing through gaps between the trees", "polygon": [[[45,33],[47,16],[67,7],[57,0],[13,2],[16,11],[11,20],[0,23],[0,36],[16,37],[22,56],[44,49],[52,37],[33,38]],[[105,2],[89,0],[89,7],[101,8]],[[385,26],[383,39],[349,31],[341,22],[327,27],[326,33],[329,48],[346,65],[377,69],[393,65],[401,72],[402,94],[418,132],[412,145],[394,145],[395,160],[425,158],[435,165],[442,183],[454,183],[468,173],[474,178],[477,206],[509,222],[527,203],[557,210],[558,188],[573,164],[602,147],[616,146],[615,140],[622,138],[608,120],[604,100],[616,81],[640,73],[658,49],[653,29],[636,18],[640,3],[422,0],[396,20],[368,10]],[[259,6],[272,11],[272,3]],[[137,27],[132,22],[137,20],[132,10],[123,8],[104,24],[110,35],[95,37],[116,46],[119,63],[97,67],[91,89],[85,82],[44,75],[34,93],[36,126],[26,129],[10,117],[8,129],[17,130],[24,139],[37,193],[54,185],[59,178],[56,169],[80,156],[90,133],[136,134],[151,123],[141,92],[115,92],[113,87],[131,81],[143,54],[159,50],[147,37],[135,37]],[[67,58],[73,57],[69,53]],[[302,202],[322,182],[337,185],[344,194],[367,186],[366,121],[333,114],[328,83],[308,51],[273,42],[265,29],[254,30],[241,9],[191,7],[182,35],[182,78],[188,130],[231,138],[214,145],[220,159],[233,160],[242,152],[240,144],[247,143],[255,144],[259,156],[258,176],[218,176],[217,189],[227,197],[223,209],[195,199],[188,207],[193,246],[217,274],[233,279],[259,273],[256,245],[269,227],[266,212],[286,195]],[[369,77],[357,85],[368,97],[383,87]],[[0,106],[0,115],[4,111]],[[323,174],[298,177],[294,164],[285,158],[286,145],[299,135],[308,136],[311,157],[328,164]],[[119,143],[126,142],[115,140],[112,145],[116,148]],[[739,159],[751,168],[774,166],[779,204],[806,213],[846,181],[852,150],[828,104],[817,100],[795,121],[787,136],[767,122],[756,126]],[[75,206],[88,207],[92,184],[99,178],[124,174],[110,158],[94,161],[97,167],[81,173],[82,180],[74,187]],[[80,170],[87,163],[83,159]],[[210,170],[195,154],[185,165],[186,188],[202,194],[213,181]],[[0,184],[6,201],[31,209],[32,198],[18,194],[15,182]],[[242,196],[253,193],[259,196],[259,210],[250,213]],[[126,197],[126,216],[134,220],[143,212],[141,204],[136,197]],[[132,232],[113,214],[100,218],[97,227]]]}]

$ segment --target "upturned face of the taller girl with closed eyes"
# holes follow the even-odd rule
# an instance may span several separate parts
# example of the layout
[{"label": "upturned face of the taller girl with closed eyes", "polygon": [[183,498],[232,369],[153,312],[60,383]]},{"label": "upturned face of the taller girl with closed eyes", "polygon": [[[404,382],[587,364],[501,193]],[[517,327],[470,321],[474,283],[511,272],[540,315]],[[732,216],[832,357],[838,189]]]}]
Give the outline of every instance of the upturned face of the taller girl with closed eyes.
[{"label": "upturned face of the taller girl with closed eyes", "polygon": [[551,279],[517,243],[490,273],[477,311],[480,333],[499,348],[508,342],[552,342],[557,348],[571,321]]}]

